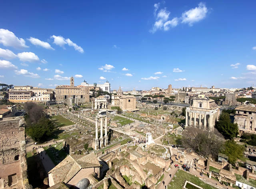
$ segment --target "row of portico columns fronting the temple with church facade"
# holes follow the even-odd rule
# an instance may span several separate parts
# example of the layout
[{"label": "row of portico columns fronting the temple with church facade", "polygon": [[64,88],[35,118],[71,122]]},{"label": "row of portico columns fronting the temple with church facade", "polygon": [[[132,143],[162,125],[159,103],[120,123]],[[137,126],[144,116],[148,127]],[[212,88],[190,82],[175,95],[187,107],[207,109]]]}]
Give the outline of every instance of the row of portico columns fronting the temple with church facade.
[{"label": "row of portico columns fronting the temple with church facade", "polygon": [[[207,115],[209,115],[208,118],[207,118]],[[188,120],[188,117],[189,117],[189,120]],[[198,124],[196,122],[196,118],[197,117],[199,117]],[[202,119],[202,117],[203,117],[203,119]],[[213,115],[211,115],[211,114],[186,111],[186,126],[188,126],[188,125],[192,126],[192,119],[194,121],[194,124],[193,124],[194,127],[196,127],[196,126],[201,127],[202,126],[202,122],[203,122],[203,129],[206,129],[206,127],[207,127],[207,119],[208,119],[208,128],[210,130],[212,130],[212,128],[214,127]],[[204,121],[202,121],[202,120],[204,120]]]}]

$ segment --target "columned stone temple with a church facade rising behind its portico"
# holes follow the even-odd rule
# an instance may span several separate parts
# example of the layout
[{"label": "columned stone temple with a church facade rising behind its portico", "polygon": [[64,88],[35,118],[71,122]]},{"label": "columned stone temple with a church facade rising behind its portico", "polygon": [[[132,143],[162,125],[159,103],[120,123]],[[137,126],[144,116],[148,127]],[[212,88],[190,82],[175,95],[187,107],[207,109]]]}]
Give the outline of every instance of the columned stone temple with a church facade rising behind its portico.
[{"label": "columned stone temple with a church facade rising behind its portico", "polygon": [[208,97],[194,97],[192,105],[186,107],[186,127],[194,126],[208,131],[214,130],[220,110],[214,100]]}]

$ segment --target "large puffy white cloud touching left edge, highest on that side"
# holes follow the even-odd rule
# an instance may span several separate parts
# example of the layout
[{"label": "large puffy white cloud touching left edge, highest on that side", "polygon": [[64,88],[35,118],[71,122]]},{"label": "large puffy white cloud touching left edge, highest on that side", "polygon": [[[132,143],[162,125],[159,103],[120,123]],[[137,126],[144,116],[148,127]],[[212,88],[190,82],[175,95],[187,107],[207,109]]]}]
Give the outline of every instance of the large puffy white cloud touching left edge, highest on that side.
[{"label": "large puffy white cloud touching left edge, highest on that side", "polygon": [[24,39],[17,38],[13,32],[5,29],[0,29],[0,44],[14,48],[28,47]]}]

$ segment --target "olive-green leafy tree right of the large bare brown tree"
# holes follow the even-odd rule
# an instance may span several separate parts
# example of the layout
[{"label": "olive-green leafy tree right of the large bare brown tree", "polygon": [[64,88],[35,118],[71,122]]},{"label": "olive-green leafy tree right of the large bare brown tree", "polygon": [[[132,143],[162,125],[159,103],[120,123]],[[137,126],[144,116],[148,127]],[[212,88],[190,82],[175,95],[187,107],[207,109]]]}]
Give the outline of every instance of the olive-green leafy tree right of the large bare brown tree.
[{"label": "olive-green leafy tree right of the large bare brown tree", "polygon": [[221,153],[224,153],[228,156],[228,162],[233,165],[236,163],[237,159],[244,158],[245,147],[243,145],[237,144],[234,140],[228,140],[225,142],[224,150]]}]

